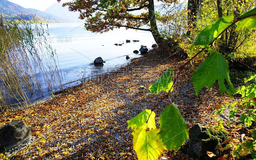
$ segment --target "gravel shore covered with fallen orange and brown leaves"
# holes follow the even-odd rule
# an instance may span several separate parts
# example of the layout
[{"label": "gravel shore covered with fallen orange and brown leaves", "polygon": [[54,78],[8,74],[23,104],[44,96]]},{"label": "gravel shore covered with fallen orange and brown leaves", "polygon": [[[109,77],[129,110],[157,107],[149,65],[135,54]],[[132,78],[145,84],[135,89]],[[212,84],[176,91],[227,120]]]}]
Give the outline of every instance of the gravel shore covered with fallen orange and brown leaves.
[{"label": "gravel shore covered with fallen orange and brown leaves", "polygon": [[[22,120],[32,132],[30,144],[12,150],[9,156],[14,159],[34,157],[45,160],[102,157],[137,159],[133,151],[132,131],[127,130],[127,120],[146,108],[152,108],[164,95],[164,92],[151,95],[148,89],[141,90],[140,85],[148,88],[167,68],[172,66],[175,69],[186,62],[186,59],[175,56],[167,59],[159,56],[156,51],[152,51],[145,57],[132,59],[131,63],[118,71],[70,87],[53,100],[26,111],[4,115],[5,119],[11,120],[6,122],[1,118],[1,126]],[[195,123],[215,123],[216,119],[206,120],[207,116],[215,109],[216,100],[224,102],[228,98],[220,94],[206,94],[210,89],[205,88],[199,96],[195,96],[190,80],[191,71],[190,67],[186,67],[181,73],[179,83],[170,97],[179,106],[188,127]],[[213,87],[211,91],[217,92],[218,88]],[[208,105],[209,102],[213,105]],[[157,127],[157,118],[167,105],[168,100],[164,100],[155,110]],[[17,153],[12,155],[15,151]],[[177,152],[179,154],[174,155],[174,151],[165,151],[161,157],[186,157],[182,150]]]}]

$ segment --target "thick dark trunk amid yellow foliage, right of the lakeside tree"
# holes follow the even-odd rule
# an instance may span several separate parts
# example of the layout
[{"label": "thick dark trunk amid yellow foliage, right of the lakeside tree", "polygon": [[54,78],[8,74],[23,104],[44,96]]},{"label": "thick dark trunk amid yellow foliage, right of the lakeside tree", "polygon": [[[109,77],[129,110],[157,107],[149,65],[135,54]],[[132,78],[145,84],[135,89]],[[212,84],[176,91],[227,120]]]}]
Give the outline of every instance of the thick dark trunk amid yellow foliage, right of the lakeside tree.
[{"label": "thick dark trunk amid yellow foliage, right of the lakeside tree", "polygon": [[199,8],[199,0],[188,0],[188,26],[187,36],[190,36],[191,30],[196,28],[196,16]]}]

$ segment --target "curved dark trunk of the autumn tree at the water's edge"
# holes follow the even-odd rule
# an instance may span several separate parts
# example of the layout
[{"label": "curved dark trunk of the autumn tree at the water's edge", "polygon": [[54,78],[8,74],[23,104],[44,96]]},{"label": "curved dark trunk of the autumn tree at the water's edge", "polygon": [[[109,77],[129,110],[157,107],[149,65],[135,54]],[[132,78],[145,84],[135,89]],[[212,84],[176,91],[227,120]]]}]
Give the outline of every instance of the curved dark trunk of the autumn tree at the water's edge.
[{"label": "curved dark trunk of the autumn tree at the water's edge", "polygon": [[149,13],[149,20],[150,20],[150,32],[152,33],[157,45],[161,46],[164,42],[164,38],[160,35],[156,25],[154,0],[148,0],[148,13]]}]

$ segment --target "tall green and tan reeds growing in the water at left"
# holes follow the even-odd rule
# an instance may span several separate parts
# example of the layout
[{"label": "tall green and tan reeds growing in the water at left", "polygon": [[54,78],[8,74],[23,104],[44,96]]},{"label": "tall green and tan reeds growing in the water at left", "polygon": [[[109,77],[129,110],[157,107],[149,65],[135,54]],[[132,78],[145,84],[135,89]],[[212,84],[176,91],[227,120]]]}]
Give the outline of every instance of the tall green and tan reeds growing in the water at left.
[{"label": "tall green and tan reeds growing in the water at left", "polygon": [[18,106],[31,105],[27,95],[42,93],[42,81],[48,89],[61,87],[56,52],[49,40],[48,26],[45,30],[38,22],[0,16],[1,110],[13,107],[15,101]]}]

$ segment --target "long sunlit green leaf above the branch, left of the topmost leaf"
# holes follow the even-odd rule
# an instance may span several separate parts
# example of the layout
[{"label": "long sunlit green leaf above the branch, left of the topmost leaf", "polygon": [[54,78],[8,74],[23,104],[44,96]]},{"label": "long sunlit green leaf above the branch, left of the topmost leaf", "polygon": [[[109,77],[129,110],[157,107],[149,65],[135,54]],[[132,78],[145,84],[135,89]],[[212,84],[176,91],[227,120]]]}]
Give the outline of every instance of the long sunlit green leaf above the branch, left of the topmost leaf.
[{"label": "long sunlit green leaf above the branch, left of the topmost leaf", "polygon": [[214,39],[217,38],[217,36],[222,31],[224,31],[229,25],[231,25],[231,21],[233,19],[234,16],[222,17],[213,22],[210,26],[204,28],[204,30],[197,35],[196,39],[194,40],[194,43],[190,47],[190,53],[193,53],[194,46],[208,46]]}]

